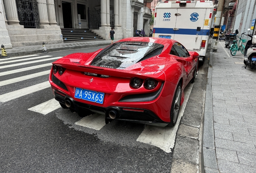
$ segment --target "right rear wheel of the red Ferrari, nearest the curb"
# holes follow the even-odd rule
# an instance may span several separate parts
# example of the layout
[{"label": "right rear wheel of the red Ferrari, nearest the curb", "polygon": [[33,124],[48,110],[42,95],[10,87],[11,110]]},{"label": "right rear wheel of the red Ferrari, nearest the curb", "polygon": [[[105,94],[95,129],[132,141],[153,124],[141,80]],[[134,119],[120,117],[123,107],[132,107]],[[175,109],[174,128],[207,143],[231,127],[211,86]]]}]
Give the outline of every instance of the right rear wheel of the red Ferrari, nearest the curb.
[{"label": "right rear wheel of the red Ferrari, nearest the curb", "polygon": [[167,125],[168,127],[173,127],[177,122],[178,115],[180,112],[181,95],[182,95],[182,90],[181,90],[181,84],[179,82],[173,97],[172,104],[171,104],[171,113],[170,113],[171,122]]}]

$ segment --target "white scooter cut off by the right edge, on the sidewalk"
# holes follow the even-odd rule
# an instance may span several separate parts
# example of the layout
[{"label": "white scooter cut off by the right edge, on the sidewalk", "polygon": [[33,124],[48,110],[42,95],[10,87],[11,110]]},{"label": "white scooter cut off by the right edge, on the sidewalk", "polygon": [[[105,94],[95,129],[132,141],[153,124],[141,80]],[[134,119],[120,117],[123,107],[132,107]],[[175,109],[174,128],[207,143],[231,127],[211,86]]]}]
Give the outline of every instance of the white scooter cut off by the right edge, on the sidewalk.
[{"label": "white scooter cut off by the right edge, on the sidewalk", "polygon": [[[247,31],[250,31],[250,28],[247,29]],[[256,35],[252,35],[251,31],[250,34],[247,34],[251,38],[251,40],[248,40],[246,43],[245,49],[244,49],[244,64],[247,67],[247,65],[250,65],[251,69],[255,69],[256,64]]]}]

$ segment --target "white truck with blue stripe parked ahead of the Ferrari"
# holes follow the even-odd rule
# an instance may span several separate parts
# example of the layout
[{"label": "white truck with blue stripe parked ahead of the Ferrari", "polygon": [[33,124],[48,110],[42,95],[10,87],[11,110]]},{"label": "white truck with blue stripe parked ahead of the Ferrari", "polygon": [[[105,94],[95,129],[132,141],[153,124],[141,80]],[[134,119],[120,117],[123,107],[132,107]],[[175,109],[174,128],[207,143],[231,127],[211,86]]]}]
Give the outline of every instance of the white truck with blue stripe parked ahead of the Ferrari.
[{"label": "white truck with blue stripe parked ahead of the Ferrari", "polygon": [[213,2],[165,1],[155,7],[153,37],[177,40],[203,61],[207,51]]}]

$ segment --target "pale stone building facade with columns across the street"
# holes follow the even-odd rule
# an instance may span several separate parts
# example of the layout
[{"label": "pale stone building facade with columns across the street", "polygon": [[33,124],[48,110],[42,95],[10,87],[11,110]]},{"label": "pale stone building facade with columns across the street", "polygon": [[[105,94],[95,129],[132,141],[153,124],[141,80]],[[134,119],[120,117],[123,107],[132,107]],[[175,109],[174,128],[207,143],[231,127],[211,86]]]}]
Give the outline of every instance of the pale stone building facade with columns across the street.
[{"label": "pale stone building facade with columns across the street", "polygon": [[90,28],[106,40],[111,27],[115,39],[136,29],[147,35],[150,19],[143,0],[0,0],[0,44],[63,43],[62,28]]}]

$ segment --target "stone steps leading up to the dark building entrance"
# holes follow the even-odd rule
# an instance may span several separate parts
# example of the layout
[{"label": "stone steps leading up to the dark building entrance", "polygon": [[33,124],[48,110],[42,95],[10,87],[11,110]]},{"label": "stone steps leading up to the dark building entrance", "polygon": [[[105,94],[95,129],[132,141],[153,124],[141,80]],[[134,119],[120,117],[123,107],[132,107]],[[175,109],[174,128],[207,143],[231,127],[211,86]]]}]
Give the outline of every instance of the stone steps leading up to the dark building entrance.
[{"label": "stone steps leading up to the dark building entrance", "polygon": [[63,42],[104,40],[90,29],[62,28],[61,33]]}]

